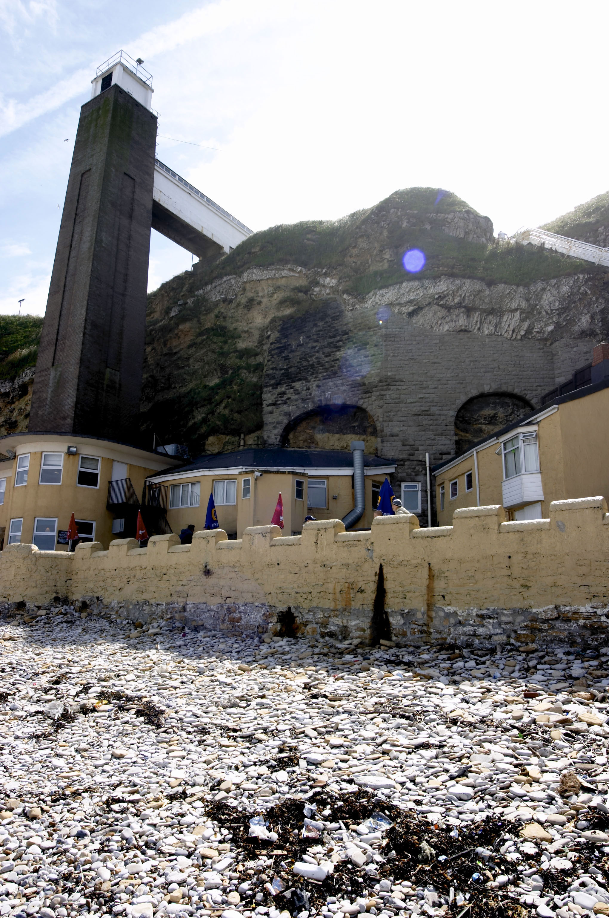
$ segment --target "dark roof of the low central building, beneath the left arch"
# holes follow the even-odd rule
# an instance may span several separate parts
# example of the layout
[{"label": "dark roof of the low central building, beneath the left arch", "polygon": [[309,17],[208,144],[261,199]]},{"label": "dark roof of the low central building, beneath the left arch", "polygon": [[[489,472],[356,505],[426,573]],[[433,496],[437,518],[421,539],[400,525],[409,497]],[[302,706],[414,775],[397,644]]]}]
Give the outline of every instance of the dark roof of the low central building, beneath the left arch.
[{"label": "dark roof of the low central building, beneath the left arch", "polygon": [[[253,449],[236,450],[234,453],[216,453],[203,455],[190,465],[179,468],[168,468],[154,476],[175,475],[184,472],[200,472],[203,469],[221,468],[264,468],[264,469],[307,469],[307,468],[345,468],[353,465],[353,453],[347,450],[292,450],[292,449]],[[393,459],[381,456],[370,456],[364,453],[364,467],[374,468],[397,465]]]}]

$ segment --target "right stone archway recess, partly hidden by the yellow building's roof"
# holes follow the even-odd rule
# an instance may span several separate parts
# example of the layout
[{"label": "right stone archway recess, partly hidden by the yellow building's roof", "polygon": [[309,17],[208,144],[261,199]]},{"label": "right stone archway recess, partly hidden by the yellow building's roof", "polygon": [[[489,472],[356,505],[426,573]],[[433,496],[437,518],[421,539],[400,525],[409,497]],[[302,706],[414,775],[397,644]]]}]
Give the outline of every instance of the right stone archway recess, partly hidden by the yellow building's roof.
[{"label": "right stone archway recess, partly hidden by the yellow building's roof", "polygon": [[473,443],[500,431],[533,410],[522,396],[491,392],[463,402],[455,415],[455,453],[465,453]]}]

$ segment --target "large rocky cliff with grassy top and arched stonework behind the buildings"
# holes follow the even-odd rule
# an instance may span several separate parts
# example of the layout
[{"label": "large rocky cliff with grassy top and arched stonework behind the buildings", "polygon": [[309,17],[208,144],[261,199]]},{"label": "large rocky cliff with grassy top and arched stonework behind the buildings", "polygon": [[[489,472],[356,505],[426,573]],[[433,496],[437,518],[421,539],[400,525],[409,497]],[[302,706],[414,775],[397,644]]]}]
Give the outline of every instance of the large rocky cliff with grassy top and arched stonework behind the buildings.
[{"label": "large rocky cliff with grassy top and arched stonework behind the buildings", "polygon": [[[140,439],[194,455],[355,437],[424,483],[426,452],[446,458],[589,362],[608,297],[602,269],[496,244],[438,189],[267,229],[149,296]],[[16,396],[0,423],[27,423]]]}]

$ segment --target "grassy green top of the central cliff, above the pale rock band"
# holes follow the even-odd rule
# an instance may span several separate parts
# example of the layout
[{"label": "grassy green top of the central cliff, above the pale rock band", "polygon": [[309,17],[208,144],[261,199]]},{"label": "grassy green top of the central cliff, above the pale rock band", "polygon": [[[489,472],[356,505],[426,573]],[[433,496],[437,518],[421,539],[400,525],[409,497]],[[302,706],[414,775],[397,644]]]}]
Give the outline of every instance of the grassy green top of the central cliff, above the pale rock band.
[{"label": "grassy green top of the central cliff, above the pale rock band", "polygon": [[[404,252],[412,248],[426,255],[419,274],[406,274],[402,266]],[[304,220],[263,229],[197,272],[195,283],[201,287],[271,264],[328,268],[344,289],[360,296],[409,278],[451,276],[526,285],[594,270],[590,263],[556,252],[497,244],[488,217],[440,188],[404,188],[338,220]]]}]

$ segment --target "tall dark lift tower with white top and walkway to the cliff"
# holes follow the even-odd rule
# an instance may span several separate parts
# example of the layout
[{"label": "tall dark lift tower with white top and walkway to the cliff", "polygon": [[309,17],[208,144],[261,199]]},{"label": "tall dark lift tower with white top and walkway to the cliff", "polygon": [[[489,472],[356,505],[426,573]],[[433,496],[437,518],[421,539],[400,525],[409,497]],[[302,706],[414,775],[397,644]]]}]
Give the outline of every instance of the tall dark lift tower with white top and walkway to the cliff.
[{"label": "tall dark lift tower with white top and walkway to the cliff", "polygon": [[50,279],[29,431],[135,442],[150,228],[208,259],[251,234],[155,159],[152,77],[124,52],[81,108]]}]

